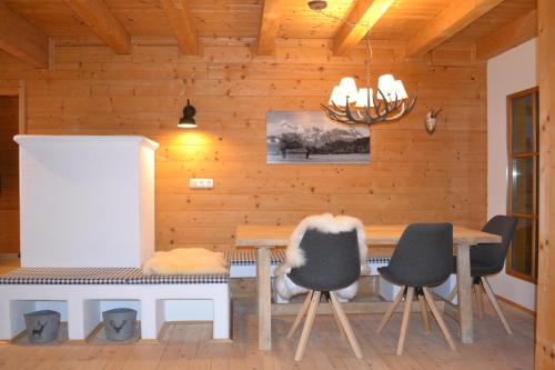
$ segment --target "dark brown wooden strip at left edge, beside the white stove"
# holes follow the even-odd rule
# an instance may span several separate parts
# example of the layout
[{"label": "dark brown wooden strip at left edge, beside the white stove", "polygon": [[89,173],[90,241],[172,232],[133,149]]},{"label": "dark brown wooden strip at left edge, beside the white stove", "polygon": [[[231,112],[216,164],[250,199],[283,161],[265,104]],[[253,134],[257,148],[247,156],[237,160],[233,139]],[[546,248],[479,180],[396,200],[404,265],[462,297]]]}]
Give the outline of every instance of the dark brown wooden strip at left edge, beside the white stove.
[{"label": "dark brown wooden strip at left edge, beside the white stove", "polygon": [[19,252],[18,97],[0,96],[0,253]]}]

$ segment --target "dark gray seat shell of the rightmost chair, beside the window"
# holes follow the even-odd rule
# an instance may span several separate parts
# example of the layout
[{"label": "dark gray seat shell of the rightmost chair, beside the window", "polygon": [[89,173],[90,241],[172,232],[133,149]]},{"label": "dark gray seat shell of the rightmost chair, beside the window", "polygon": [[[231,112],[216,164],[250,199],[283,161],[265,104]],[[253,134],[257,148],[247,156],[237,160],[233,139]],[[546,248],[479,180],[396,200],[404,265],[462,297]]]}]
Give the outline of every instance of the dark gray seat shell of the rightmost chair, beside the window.
[{"label": "dark gray seat shell of the rightmost chair, beside the window", "polygon": [[477,244],[471,248],[471,266],[474,261],[491,268],[492,273],[503,269],[508,246],[513,240],[517,220],[513,217],[497,214],[482,228],[482,231],[501,237],[501,243]]}]

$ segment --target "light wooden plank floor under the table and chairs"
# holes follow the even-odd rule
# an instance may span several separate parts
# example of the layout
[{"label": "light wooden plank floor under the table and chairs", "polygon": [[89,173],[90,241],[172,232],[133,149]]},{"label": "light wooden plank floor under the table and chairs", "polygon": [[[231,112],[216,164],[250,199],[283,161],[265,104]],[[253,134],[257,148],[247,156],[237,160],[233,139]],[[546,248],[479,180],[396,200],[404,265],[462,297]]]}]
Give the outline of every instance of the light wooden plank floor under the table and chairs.
[{"label": "light wooden plank floor under the table and chairs", "polygon": [[[374,333],[379,314],[350,316],[364,360],[354,358],[331,316],[316,317],[305,357],[294,366],[300,332],[285,339],[293,317],[273,319],[274,349],[260,352],[256,339],[255,301],[234,302],[234,340],[211,341],[210,323],[172,323],[160,343],[108,344],[100,338],[88,344],[0,346],[0,369],[532,369],[534,319],[503,304],[515,334],[505,333],[487,307],[476,317],[476,342],[450,351],[437,326],[426,334],[418,314],[413,314],[403,356],[395,356],[401,316],[394,314],[381,336]],[[456,324],[445,319],[453,333]]]}]

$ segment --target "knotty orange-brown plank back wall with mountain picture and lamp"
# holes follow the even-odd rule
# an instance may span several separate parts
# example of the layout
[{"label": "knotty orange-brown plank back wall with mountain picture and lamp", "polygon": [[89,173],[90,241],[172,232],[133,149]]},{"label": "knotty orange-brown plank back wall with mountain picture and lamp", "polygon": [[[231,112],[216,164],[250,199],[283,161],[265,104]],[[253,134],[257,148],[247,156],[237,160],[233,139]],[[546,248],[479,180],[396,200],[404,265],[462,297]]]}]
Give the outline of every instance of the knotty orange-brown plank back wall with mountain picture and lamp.
[{"label": "knotty orange-brown plank back wall with mountain picture and lamp", "polygon": [[[466,46],[436,58],[404,60],[394,42],[375,42],[372,72],[393,72],[415,110],[374,128],[372,163],[269,166],[269,110],[317,110],[341,77],[363,77],[364,49],[333,57],[329,40],[279,40],[256,57],[254,40],[203,38],[201,56],[176,44],[57,47],[53,71],[3,57],[2,79],[26,79],[29,133],[143,134],[157,152],[157,246],[232,248],[240,223],[296,223],[330,211],[367,223],[453,220],[481,227],[486,217],[485,64]],[[463,58],[461,58],[463,56]],[[376,81],[374,81],[375,83]],[[200,129],[176,129],[186,101]],[[433,136],[428,107],[443,108]],[[214,179],[191,190],[191,177]]]}]

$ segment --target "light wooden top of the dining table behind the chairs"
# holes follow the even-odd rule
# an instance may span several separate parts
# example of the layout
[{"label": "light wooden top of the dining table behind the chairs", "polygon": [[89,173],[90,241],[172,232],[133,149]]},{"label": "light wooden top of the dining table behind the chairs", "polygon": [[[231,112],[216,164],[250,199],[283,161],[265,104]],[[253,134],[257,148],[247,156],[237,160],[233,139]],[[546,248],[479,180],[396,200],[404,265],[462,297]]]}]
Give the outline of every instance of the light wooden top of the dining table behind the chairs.
[{"label": "light wooden top of the dining table behind the chairs", "polygon": [[[367,226],[366,243],[370,246],[396,244],[406,224]],[[245,224],[238,226],[235,246],[242,247],[282,247],[289,243],[289,238],[295,226]],[[501,237],[483,231],[454,227],[453,242],[456,244],[498,243]]]}]

